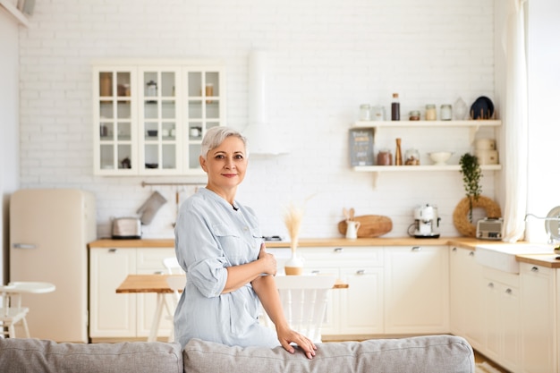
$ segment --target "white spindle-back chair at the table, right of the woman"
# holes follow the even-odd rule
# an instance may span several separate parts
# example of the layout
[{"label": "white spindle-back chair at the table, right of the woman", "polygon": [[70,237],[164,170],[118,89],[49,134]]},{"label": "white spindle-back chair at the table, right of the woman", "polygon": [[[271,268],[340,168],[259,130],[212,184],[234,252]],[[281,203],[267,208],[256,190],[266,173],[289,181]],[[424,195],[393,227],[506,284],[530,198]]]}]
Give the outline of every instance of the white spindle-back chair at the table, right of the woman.
[{"label": "white spindle-back chair at the table, right of the woman", "polygon": [[[335,286],[336,276],[276,276],[275,280],[290,327],[320,343],[328,292]],[[272,326],[266,312],[264,315],[265,325]]]}]

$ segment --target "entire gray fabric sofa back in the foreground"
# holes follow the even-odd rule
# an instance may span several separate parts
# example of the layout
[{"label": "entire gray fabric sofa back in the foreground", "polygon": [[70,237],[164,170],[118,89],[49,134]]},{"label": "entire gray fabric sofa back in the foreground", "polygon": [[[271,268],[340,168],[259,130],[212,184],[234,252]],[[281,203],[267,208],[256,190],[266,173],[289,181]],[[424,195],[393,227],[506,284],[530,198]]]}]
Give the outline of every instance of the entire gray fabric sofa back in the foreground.
[{"label": "entire gray fabric sofa back in the foreground", "polygon": [[99,373],[372,373],[474,372],[471,345],[462,337],[430,335],[364,342],[322,343],[308,360],[282,347],[228,347],[191,340],[178,343],[55,343],[0,338],[3,372]]}]

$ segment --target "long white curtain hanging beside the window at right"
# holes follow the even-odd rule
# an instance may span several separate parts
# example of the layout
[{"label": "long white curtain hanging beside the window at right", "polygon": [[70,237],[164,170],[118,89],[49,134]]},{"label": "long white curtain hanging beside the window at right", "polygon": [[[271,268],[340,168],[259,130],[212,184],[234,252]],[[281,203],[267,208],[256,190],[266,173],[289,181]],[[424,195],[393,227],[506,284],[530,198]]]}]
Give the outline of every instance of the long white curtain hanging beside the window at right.
[{"label": "long white curtain hanging beside the window at right", "polygon": [[527,55],[525,0],[508,0],[505,22],[505,210],[504,240],[523,237],[527,205]]}]

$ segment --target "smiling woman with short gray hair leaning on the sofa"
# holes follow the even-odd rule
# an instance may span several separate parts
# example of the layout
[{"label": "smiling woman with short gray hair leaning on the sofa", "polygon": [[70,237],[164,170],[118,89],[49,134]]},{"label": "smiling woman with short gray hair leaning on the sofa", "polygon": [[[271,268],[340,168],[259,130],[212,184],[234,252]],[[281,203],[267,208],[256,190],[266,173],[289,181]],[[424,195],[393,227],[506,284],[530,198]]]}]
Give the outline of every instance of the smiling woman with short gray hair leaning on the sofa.
[{"label": "smiling woman with short gray hair leaning on the sofa", "polygon": [[[267,253],[251,208],[235,200],[248,164],[241,133],[214,127],[199,157],[206,188],[185,200],[175,225],[175,253],[187,285],[174,315],[175,337],[238,346],[298,344],[312,359],[317,347],[288,326],[276,290],[276,259]],[[259,325],[260,303],[276,326]],[[279,343],[278,343],[279,342]]]}]

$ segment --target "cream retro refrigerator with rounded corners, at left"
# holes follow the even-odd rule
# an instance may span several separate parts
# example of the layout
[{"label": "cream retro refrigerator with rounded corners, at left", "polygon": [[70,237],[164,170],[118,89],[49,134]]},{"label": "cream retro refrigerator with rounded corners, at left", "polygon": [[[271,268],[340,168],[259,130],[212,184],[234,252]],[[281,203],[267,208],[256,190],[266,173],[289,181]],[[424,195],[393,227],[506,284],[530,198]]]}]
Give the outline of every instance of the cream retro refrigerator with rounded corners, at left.
[{"label": "cream retro refrigerator with rounded corners, at left", "polygon": [[32,338],[88,342],[88,243],[97,237],[89,191],[27,189],[10,199],[10,281],[55,284],[23,294]]}]

